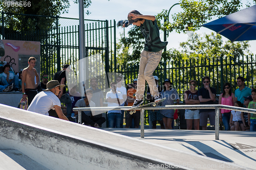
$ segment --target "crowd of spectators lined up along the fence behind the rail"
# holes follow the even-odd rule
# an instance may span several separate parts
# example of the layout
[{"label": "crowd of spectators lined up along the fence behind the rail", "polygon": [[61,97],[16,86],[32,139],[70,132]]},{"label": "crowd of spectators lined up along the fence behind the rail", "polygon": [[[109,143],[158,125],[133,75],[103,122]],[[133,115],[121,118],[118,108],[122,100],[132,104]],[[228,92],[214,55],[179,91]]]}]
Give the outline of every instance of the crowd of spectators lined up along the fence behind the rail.
[{"label": "crowd of spectators lined up along the fence behind the rail", "polygon": [[[23,91],[23,96],[28,96],[28,93],[32,91],[33,95],[28,96],[30,105],[38,92],[44,92],[46,89],[49,91],[50,89],[47,87],[49,82],[48,74],[44,73],[41,75],[41,82],[36,79],[34,81],[33,77],[36,77],[37,75],[37,72],[34,69],[36,59],[32,57],[29,59],[28,63],[29,66],[25,68],[24,71],[20,71],[18,75],[15,75],[14,72],[10,71],[11,66],[9,63],[3,65],[3,72],[0,74],[0,92]],[[64,113],[68,120],[77,122],[77,112],[73,113],[73,108],[75,107],[102,107],[104,102],[108,104],[108,107],[133,106],[133,103],[136,100],[137,79],[134,79],[133,83],[127,84],[125,88],[123,86],[123,77],[118,76],[116,81],[110,84],[110,90],[106,91],[106,96],[104,98],[103,91],[98,88],[97,79],[92,78],[90,80],[90,88],[84,91],[83,96],[81,95],[83,92],[80,94],[77,91],[77,85],[75,84],[72,84],[69,92],[66,92],[66,87],[63,85],[66,85],[67,82],[66,69],[68,67],[69,64],[63,65],[62,70],[57,71],[53,78],[54,80],[57,80],[59,84],[56,85],[54,89],[60,87],[60,92],[58,94],[55,91],[53,91],[53,93],[56,93],[59,103],[66,106],[60,104],[61,114],[59,109],[57,109],[58,114],[56,113],[54,109],[56,106],[51,106],[52,108],[49,110],[49,114],[46,115],[53,115],[54,117],[60,115],[63,118],[62,114]],[[28,80],[27,76],[32,77],[31,80]],[[161,83],[158,82],[158,77],[154,76],[154,78],[160,98],[166,98],[160,105],[178,105],[180,103],[180,98],[177,90],[173,87],[172,82],[170,82],[169,79],[165,79],[161,85]],[[216,103],[217,99],[219,104],[222,105],[256,109],[256,89],[251,90],[249,87],[246,87],[244,83],[244,78],[238,77],[238,88],[234,93],[232,93],[230,83],[225,83],[222,89],[223,92],[219,95],[219,99],[217,99],[216,89],[210,87],[209,77],[206,76],[202,78],[203,87],[201,88],[197,87],[198,83],[196,80],[190,80],[189,89],[184,93],[183,102],[186,105],[212,105]],[[27,88],[28,85],[30,85],[30,88]],[[146,90],[145,99],[148,103],[154,102],[154,96],[151,95],[152,90],[150,87],[147,86]],[[34,91],[36,91],[36,94],[34,94]],[[39,100],[38,96],[36,99]],[[55,101],[55,103],[59,105],[58,102]],[[32,108],[32,106],[30,108]],[[173,129],[174,112],[175,110],[173,109],[149,110],[148,114],[150,116],[150,121],[152,122],[152,128],[155,129],[158,123],[160,124],[161,129]],[[107,118],[102,117],[101,113],[102,111],[83,111],[82,123],[84,125],[99,128],[107,119],[108,127],[123,128],[123,120],[125,118],[125,128],[139,128],[140,126],[140,110],[136,110],[133,114],[129,114],[129,112],[126,111],[125,115],[125,112],[122,110],[110,110],[107,112]],[[215,110],[185,109],[185,119],[187,130],[193,128],[199,130],[200,126],[202,127],[202,130],[207,130],[207,125],[209,125],[209,123],[211,126],[215,126]],[[256,114],[220,109],[220,123],[223,123],[225,131],[256,131]]]}]

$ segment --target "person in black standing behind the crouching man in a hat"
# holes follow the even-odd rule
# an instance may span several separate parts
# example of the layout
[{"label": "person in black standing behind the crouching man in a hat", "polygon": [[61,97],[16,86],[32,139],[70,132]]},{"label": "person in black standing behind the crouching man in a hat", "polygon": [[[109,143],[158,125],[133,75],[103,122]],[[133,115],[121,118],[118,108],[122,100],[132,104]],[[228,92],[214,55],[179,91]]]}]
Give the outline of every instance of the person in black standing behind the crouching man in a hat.
[{"label": "person in black standing behind the crouching man in a hat", "polygon": [[[69,67],[69,64],[65,64],[62,67],[62,70],[57,71],[53,77],[53,80],[57,80],[59,84],[65,84],[67,82],[67,77],[66,77],[66,69]],[[62,87],[60,89],[59,95],[57,95],[61,103],[65,103],[67,107],[67,118],[71,122],[75,122],[75,120],[71,117],[71,112],[72,112],[72,101],[70,99],[70,96],[68,93],[66,93],[66,87]]]}]

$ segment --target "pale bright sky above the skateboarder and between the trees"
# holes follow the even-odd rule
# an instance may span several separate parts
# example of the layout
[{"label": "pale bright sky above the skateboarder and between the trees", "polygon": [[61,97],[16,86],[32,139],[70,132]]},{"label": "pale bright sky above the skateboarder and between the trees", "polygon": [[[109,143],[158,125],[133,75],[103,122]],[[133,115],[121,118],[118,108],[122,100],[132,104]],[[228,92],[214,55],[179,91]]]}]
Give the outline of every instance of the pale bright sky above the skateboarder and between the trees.
[{"label": "pale bright sky above the skateboarder and between the trees", "polygon": [[[132,10],[138,10],[143,15],[157,15],[162,12],[163,9],[169,10],[174,4],[179,3],[178,0],[166,1],[166,0],[92,0],[92,4],[89,8],[84,9],[84,19],[96,19],[96,20],[116,20],[116,23],[119,20],[127,19],[127,14]],[[89,10],[91,12],[90,15],[85,14],[85,12]],[[169,21],[172,22],[172,14],[183,11],[179,5],[176,5],[170,10]],[[79,6],[78,4],[74,4],[73,0],[70,0],[70,8],[69,13],[61,14],[61,17],[70,17],[70,18],[79,18]],[[215,20],[217,18],[213,18]],[[212,21],[210,20],[210,21]],[[118,27],[117,31],[117,42],[120,39],[120,33],[125,31],[125,35],[127,36],[127,32],[132,26],[128,28]],[[212,31],[210,29],[201,27],[199,30],[195,31],[197,34],[210,34]],[[215,32],[214,32],[215,33]],[[216,33],[215,33],[216,34]],[[223,37],[223,36],[222,36]],[[160,38],[163,41],[163,31],[160,30]],[[169,33],[167,37],[168,45],[167,50],[170,48],[176,48],[181,50],[180,42],[185,42],[188,39],[188,35],[185,33],[176,33],[175,31]],[[228,39],[223,37],[224,41]],[[256,54],[256,40],[249,41],[251,45],[249,50],[255,55]]]}]

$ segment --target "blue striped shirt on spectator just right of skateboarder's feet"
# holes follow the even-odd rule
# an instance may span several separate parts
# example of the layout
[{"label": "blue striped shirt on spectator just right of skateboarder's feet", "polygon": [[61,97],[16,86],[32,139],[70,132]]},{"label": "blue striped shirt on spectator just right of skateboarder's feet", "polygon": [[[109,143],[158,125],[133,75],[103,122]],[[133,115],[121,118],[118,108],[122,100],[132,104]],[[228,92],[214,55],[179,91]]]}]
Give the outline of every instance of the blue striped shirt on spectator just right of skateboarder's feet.
[{"label": "blue striped shirt on spectator just right of skateboarder's feet", "polygon": [[[161,99],[166,98],[162,102],[162,106],[174,105],[174,102],[176,102],[177,99],[180,99],[177,90],[175,90],[174,88],[172,88],[171,90],[166,90],[166,91],[162,90],[160,97],[161,97]],[[164,115],[165,117],[174,118],[174,110],[173,109],[160,110],[160,113],[162,115]]]}]

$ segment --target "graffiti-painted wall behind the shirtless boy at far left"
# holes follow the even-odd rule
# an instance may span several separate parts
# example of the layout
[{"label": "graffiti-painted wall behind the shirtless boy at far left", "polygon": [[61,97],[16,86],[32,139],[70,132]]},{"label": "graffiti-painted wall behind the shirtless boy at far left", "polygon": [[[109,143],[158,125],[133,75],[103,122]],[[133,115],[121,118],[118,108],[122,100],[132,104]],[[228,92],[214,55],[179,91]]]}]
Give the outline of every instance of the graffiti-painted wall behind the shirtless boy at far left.
[{"label": "graffiti-painted wall behind the shirtless boy at far left", "polygon": [[[2,41],[2,42],[1,42]],[[4,48],[3,48],[4,46]],[[29,57],[36,58],[36,70],[40,72],[40,42],[0,40],[0,67],[10,63],[13,72],[19,72],[28,66]],[[2,72],[2,69],[0,70]]]}]

